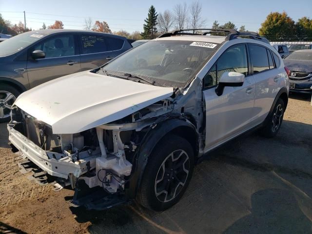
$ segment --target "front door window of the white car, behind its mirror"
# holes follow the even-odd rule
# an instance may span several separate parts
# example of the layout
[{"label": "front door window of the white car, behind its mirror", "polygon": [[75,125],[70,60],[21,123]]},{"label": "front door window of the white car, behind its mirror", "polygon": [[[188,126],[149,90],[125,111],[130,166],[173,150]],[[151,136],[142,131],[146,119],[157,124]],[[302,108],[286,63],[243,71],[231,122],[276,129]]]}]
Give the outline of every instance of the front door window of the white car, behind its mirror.
[{"label": "front door window of the white car, behind its mirror", "polygon": [[204,77],[204,87],[219,83],[225,72],[239,72],[248,75],[248,60],[245,45],[236,45],[226,50]]}]

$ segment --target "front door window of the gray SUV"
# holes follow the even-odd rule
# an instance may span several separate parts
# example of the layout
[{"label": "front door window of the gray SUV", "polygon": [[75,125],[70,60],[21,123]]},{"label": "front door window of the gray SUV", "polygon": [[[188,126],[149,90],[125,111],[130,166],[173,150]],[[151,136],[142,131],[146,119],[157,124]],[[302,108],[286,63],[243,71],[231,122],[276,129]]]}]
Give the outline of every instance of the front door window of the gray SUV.
[{"label": "front door window of the gray SUV", "polygon": [[59,35],[37,44],[33,50],[42,50],[45,59],[75,55],[73,35]]}]

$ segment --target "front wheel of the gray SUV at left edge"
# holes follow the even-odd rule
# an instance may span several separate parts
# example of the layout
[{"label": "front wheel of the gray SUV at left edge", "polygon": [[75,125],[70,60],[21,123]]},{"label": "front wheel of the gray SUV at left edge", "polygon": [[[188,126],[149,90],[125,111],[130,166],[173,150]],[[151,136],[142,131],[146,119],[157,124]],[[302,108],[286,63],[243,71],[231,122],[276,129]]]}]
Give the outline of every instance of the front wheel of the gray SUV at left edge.
[{"label": "front wheel of the gray SUV at left edge", "polygon": [[11,107],[20,92],[8,84],[0,84],[0,123],[10,120]]}]

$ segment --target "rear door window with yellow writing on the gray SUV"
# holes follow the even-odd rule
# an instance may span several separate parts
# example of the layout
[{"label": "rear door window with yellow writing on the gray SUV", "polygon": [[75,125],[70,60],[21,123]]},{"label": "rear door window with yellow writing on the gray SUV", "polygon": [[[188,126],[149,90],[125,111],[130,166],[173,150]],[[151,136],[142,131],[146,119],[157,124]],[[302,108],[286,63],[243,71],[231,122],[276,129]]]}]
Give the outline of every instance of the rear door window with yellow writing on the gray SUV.
[{"label": "rear door window with yellow writing on the gray SUV", "polygon": [[107,45],[104,37],[97,35],[81,35],[81,54],[106,52]]}]

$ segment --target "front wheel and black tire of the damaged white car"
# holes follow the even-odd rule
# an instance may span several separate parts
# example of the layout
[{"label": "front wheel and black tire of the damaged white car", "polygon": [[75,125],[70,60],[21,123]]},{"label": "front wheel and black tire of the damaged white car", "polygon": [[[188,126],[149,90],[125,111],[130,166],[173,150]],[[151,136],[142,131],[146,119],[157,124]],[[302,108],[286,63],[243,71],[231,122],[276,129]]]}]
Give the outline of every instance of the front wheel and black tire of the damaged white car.
[{"label": "front wheel and black tire of the damaged white car", "polygon": [[[174,153],[173,160],[171,166],[169,161],[171,160],[171,154]],[[178,156],[179,155],[179,156]],[[189,160],[187,159],[189,158]],[[166,162],[164,163],[164,160]],[[168,163],[168,164],[166,164]],[[179,170],[181,167],[178,166],[182,163],[184,165],[182,170]],[[162,165],[164,165],[162,167]],[[168,169],[165,173],[163,168],[167,165]],[[176,169],[176,167],[179,169]],[[171,169],[170,169],[171,167]],[[175,169],[173,169],[175,168]],[[187,189],[189,182],[191,180],[194,169],[194,152],[191,144],[184,138],[176,136],[176,135],[167,135],[163,137],[154,148],[152,154],[149,157],[148,163],[146,165],[141,186],[139,188],[137,194],[137,201],[144,207],[154,210],[154,211],[164,211],[174,204],[176,204],[179,199],[184,194]],[[180,171],[180,172],[179,172]],[[186,173],[188,171],[188,173]],[[160,173],[158,175],[158,172]],[[163,172],[163,173],[162,173]],[[161,175],[163,180],[160,182],[156,181],[156,176],[158,175],[158,180],[161,180]],[[169,176],[167,176],[169,175]],[[170,182],[168,179],[172,178]],[[179,185],[180,182],[184,182],[184,185]],[[176,183],[178,185],[176,186]],[[158,190],[158,186],[164,184],[169,184],[169,189],[167,190],[167,195],[161,193],[156,196],[156,190]],[[170,189],[176,188],[175,189]],[[182,187],[181,187],[182,186]],[[175,192],[174,192],[175,191]],[[163,199],[163,196],[166,198]],[[172,197],[171,197],[172,196]],[[168,198],[168,199],[167,199]],[[171,199],[169,199],[171,198]],[[162,200],[163,199],[163,200]],[[167,201],[166,201],[167,200]]]}]

